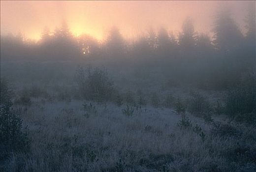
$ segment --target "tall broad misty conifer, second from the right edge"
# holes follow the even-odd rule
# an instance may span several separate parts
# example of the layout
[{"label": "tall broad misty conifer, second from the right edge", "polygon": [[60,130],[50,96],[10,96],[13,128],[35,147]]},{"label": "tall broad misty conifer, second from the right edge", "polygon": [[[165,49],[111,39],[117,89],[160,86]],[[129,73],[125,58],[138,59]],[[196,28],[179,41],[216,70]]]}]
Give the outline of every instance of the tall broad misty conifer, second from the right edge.
[{"label": "tall broad misty conifer, second from the right edge", "polygon": [[243,50],[245,41],[228,9],[222,9],[217,13],[213,31],[213,42],[218,51],[216,57],[219,58],[213,61],[213,65],[216,65],[213,78],[218,79],[213,85],[218,85],[218,88],[237,85],[247,68]]}]

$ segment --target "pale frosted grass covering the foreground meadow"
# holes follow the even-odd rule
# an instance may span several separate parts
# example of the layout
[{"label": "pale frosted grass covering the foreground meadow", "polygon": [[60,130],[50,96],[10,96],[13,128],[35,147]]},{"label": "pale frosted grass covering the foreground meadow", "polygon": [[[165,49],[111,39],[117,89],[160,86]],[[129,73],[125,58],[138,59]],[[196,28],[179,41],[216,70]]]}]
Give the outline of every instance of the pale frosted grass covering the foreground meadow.
[{"label": "pale frosted grass covering the foreground meadow", "polygon": [[[86,116],[85,103],[55,101],[42,104],[38,99],[26,110],[19,109],[23,125],[28,125],[31,148],[27,153],[11,154],[1,163],[1,171],[256,170],[256,128],[253,126],[209,124],[187,115],[193,127],[183,129],[177,125],[181,116],[170,113],[170,109],[146,106],[127,116],[122,112],[126,105],[117,107],[112,103],[94,103],[96,112]],[[225,133],[226,128],[235,134]]]}]

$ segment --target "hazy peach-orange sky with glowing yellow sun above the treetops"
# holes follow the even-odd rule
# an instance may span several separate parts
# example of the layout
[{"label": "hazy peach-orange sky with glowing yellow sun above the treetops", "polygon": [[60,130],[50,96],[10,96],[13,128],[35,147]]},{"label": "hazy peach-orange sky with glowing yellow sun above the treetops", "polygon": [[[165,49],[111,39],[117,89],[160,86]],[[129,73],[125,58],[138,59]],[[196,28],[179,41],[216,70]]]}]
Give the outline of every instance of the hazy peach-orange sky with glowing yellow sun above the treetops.
[{"label": "hazy peach-orange sky with glowing yellow sun above the treetops", "polygon": [[192,18],[195,30],[211,34],[216,10],[228,7],[244,30],[244,19],[252,1],[0,1],[0,34],[21,32],[26,38],[40,39],[42,30],[53,31],[66,22],[75,35],[90,34],[105,39],[116,26],[127,39],[149,28],[167,29],[178,34],[182,23]]}]

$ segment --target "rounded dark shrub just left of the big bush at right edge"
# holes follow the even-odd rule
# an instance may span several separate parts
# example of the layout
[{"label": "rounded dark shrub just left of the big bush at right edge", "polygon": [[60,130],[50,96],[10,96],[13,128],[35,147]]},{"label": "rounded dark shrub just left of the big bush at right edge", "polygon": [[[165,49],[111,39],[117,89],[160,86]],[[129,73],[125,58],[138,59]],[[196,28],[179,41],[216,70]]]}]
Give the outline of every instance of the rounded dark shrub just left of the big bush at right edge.
[{"label": "rounded dark shrub just left of the big bush at right edge", "polygon": [[198,92],[191,92],[188,111],[193,115],[209,115],[211,107],[209,101]]}]

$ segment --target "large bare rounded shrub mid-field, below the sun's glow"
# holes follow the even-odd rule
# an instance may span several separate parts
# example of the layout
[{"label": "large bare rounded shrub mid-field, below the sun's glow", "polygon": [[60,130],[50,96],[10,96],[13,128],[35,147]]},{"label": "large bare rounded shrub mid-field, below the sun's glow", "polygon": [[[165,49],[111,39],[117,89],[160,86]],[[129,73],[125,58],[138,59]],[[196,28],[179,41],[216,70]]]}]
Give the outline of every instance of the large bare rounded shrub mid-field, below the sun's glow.
[{"label": "large bare rounded shrub mid-field, below the sun's glow", "polygon": [[114,85],[106,70],[89,67],[85,71],[79,67],[75,78],[81,95],[87,100],[108,101],[113,94]]}]

